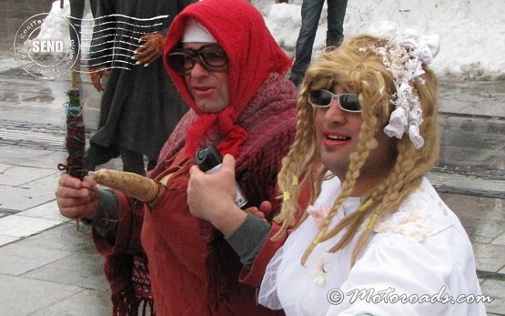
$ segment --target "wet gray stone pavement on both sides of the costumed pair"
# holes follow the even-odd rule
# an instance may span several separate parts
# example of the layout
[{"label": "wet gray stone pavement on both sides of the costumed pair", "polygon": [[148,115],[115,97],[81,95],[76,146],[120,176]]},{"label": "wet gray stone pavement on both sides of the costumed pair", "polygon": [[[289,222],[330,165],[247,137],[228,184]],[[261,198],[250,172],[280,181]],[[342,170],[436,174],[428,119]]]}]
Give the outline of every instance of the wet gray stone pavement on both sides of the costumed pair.
[{"label": "wet gray stone pavement on both sides of the costumed pair", "polygon": [[[50,4],[0,4],[0,316],[108,315],[104,260],[89,229],[76,230],[56,209],[70,76],[30,76],[12,52],[24,17]],[[82,78],[90,134],[100,96]],[[439,84],[441,152],[429,179],[470,236],[482,291],[494,300],[488,315],[505,315],[505,82]]]}]

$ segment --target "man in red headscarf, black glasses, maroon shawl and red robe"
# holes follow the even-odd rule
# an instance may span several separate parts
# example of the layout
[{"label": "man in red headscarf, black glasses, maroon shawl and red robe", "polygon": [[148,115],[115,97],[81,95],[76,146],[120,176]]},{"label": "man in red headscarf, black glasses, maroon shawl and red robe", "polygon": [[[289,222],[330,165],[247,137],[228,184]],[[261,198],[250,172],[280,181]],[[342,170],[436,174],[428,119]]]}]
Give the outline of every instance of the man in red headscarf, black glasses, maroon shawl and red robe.
[{"label": "man in red headscarf, black glasses, maroon shawl and red robe", "polygon": [[268,235],[258,231],[265,229],[258,225],[262,219],[243,213],[230,219],[232,229],[218,230],[190,213],[187,184],[196,150],[213,145],[236,158],[237,182],[256,207],[249,210],[258,212],[259,203],[270,200],[271,214],[278,211],[277,174],[296,124],[296,89],[285,79],[291,60],[258,10],[243,0],[187,6],[168,32],[164,60],[190,107],[148,175],[167,186],[165,193],[139,205],[119,191],[96,189],[93,178],[64,176],[56,190],[60,211],[94,226],[116,314],[136,314],[138,297],[151,303],[138,294],[151,285],[158,315],[275,314],[256,302],[269,258],[252,267],[240,262],[251,256],[239,258],[232,248],[237,230],[251,232],[247,239],[260,244],[256,239]]}]

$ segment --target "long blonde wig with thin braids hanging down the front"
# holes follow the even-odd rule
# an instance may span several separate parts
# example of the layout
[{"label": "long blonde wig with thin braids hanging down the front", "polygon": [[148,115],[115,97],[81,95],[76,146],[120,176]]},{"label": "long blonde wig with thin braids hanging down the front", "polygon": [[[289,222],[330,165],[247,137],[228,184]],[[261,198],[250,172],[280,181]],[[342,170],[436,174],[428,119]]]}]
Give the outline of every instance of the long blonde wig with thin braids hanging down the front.
[{"label": "long blonde wig with thin braids hanging down the front", "polygon": [[[342,46],[333,51],[322,53],[308,68],[305,80],[298,97],[298,121],[295,141],[288,156],[282,161],[282,169],[278,175],[279,189],[283,193],[284,202],[276,221],[282,224],[278,239],[288,228],[295,227],[298,212],[298,198],[301,190],[310,188],[310,201],[318,196],[320,184],[328,171],[320,163],[319,148],[314,129],[315,110],[308,104],[308,93],[319,88],[331,90],[336,84],[349,93],[359,96],[362,107],[363,123],[359,133],[357,150],[350,155],[348,172],[342,180],[341,192],[335,201],[333,209],[310,244],[301,263],[305,264],[311,251],[318,242],[328,240],[345,230],[343,237],[331,248],[332,252],[340,250],[352,240],[363,223],[365,230],[359,236],[356,248],[353,250],[350,264],[357,260],[359,252],[366,246],[377,219],[383,214],[394,212],[410,192],[419,187],[422,177],[433,167],[439,157],[439,136],[437,130],[437,79],[434,73],[423,65],[425,74],[412,80],[409,84],[414,88],[422,108],[422,124],[419,133],[425,143],[416,149],[409,137],[404,135],[395,139],[397,155],[388,176],[371,190],[369,199],[363,201],[358,211],[341,219],[335,227],[329,229],[331,219],[337,214],[342,202],[349,197],[357,181],[359,171],[364,165],[369,152],[377,148],[376,130],[382,130],[389,122],[389,116],[395,109],[391,104],[395,86],[393,76],[382,63],[382,56],[374,52],[375,48],[387,43],[374,36],[354,36]],[[307,218],[307,212],[299,222]],[[299,224],[299,223],[298,223]]]}]

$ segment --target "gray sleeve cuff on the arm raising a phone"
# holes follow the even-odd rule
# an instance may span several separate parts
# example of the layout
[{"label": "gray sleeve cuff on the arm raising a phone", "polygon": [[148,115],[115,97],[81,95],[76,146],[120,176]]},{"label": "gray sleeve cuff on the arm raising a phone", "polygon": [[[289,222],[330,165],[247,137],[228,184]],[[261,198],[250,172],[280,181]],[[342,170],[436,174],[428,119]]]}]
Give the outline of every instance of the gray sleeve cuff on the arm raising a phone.
[{"label": "gray sleeve cuff on the arm raising a phone", "polygon": [[233,234],[225,238],[247,269],[251,267],[259,249],[267,240],[270,228],[267,221],[247,214],[246,221]]}]

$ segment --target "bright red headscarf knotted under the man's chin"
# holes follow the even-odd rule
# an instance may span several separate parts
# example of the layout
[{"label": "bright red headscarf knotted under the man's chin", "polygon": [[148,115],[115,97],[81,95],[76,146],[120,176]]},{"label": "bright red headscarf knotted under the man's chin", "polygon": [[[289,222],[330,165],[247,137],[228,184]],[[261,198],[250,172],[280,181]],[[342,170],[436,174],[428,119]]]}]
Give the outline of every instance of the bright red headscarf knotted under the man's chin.
[{"label": "bright red headscarf knotted under the man's chin", "polygon": [[[201,112],[187,90],[184,77],[167,63],[167,54],[180,42],[188,19],[204,25],[227,53],[230,104],[219,113]],[[199,116],[187,130],[187,156],[193,157],[200,141],[216,127],[225,135],[217,145],[219,151],[237,156],[247,138],[246,130],[235,124],[237,117],[268,75],[272,72],[285,75],[291,62],[268,31],[263,16],[245,0],[203,0],[188,5],[170,26],[164,54],[168,74],[187,105]]]}]

